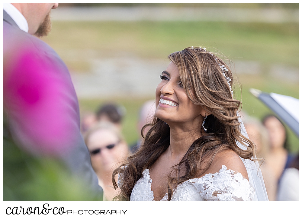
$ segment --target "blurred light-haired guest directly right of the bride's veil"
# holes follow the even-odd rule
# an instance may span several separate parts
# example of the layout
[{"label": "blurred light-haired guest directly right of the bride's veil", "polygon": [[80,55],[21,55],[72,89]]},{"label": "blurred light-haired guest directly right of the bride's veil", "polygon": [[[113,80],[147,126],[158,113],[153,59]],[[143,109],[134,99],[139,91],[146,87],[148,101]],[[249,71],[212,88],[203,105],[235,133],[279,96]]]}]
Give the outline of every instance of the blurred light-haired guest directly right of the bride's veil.
[{"label": "blurred light-haired guest directly right of the bride's veil", "polygon": [[244,116],[243,123],[249,139],[255,144],[256,157],[258,159],[264,158],[264,160],[262,159],[259,161],[259,165],[268,195],[268,200],[275,200],[278,178],[275,176],[272,167],[266,160],[266,156],[269,150],[268,131],[262,125],[261,121],[251,116]]}]

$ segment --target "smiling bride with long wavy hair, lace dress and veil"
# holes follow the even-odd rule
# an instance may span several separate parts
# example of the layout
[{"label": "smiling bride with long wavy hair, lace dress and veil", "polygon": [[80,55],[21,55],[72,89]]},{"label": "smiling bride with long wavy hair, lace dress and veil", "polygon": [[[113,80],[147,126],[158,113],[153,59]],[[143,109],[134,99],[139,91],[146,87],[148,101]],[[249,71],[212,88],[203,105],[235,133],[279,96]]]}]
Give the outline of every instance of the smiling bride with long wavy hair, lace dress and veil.
[{"label": "smiling bride with long wavy hair, lace dress and veil", "polygon": [[114,188],[120,187],[115,200],[267,200],[230,69],[205,48],[185,48],[169,59],[152,127],[113,172]]}]

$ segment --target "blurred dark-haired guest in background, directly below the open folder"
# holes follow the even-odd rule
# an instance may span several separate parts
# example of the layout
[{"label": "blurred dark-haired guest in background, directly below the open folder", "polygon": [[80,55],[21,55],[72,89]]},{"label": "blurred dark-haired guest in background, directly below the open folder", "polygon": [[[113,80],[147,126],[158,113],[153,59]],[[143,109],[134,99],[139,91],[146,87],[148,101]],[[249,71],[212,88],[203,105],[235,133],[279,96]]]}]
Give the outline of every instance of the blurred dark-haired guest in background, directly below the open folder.
[{"label": "blurred dark-haired guest in background, directly below the open folder", "polygon": [[[262,124],[267,128],[270,147],[266,155],[266,163],[271,169],[271,176],[277,181],[277,187],[284,170],[293,161],[294,155],[289,153],[287,132],[281,121],[274,115],[267,115],[263,118]],[[277,189],[275,197],[276,200]]]}]

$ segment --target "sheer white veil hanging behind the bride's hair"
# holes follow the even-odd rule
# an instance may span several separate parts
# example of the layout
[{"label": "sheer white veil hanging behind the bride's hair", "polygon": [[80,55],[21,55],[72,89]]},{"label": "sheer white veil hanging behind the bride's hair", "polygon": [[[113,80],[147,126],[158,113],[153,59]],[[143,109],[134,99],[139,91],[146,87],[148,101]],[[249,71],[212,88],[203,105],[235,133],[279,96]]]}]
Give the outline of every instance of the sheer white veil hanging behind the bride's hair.
[{"label": "sheer white veil hanging behind the bride's hair", "polygon": [[[237,116],[239,116],[238,112],[237,112]],[[246,129],[243,125],[241,117],[238,118],[238,121],[241,123],[241,134],[243,134],[246,138],[249,138],[249,136],[247,135]],[[246,146],[243,144],[240,144],[238,141],[237,141],[237,145],[239,148],[246,150]],[[243,161],[243,163],[246,167],[246,171],[249,175],[249,183],[255,189],[255,197],[254,197],[253,201],[268,201],[268,196],[266,193],[262,173],[259,168],[258,162],[246,160],[243,158],[241,158],[241,160]]]}]

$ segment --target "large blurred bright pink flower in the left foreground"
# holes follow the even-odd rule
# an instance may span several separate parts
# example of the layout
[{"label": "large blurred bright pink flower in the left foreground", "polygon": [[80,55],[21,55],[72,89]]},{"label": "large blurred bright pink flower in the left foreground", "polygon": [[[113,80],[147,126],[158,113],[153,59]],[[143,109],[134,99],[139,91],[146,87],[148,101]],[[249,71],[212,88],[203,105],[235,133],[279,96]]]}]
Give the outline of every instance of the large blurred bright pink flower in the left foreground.
[{"label": "large blurred bright pink flower in the left foreground", "polygon": [[70,95],[75,91],[66,66],[37,48],[13,54],[14,60],[4,63],[9,66],[3,77],[4,110],[13,137],[34,154],[70,149],[79,124],[71,119],[77,116]]}]

